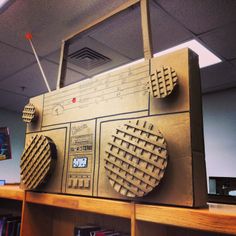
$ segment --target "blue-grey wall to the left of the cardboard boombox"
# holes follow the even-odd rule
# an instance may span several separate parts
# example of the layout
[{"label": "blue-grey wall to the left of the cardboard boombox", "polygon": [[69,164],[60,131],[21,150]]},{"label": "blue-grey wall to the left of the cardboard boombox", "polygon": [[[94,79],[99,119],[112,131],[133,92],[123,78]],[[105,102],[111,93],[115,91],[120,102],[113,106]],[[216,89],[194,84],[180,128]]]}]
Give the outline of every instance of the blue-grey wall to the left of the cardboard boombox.
[{"label": "blue-grey wall to the left of the cardboard boombox", "polygon": [[0,127],[8,127],[12,148],[12,159],[0,161],[0,179],[8,183],[20,181],[20,156],[25,141],[25,124],[21,114],[0,109]]}]

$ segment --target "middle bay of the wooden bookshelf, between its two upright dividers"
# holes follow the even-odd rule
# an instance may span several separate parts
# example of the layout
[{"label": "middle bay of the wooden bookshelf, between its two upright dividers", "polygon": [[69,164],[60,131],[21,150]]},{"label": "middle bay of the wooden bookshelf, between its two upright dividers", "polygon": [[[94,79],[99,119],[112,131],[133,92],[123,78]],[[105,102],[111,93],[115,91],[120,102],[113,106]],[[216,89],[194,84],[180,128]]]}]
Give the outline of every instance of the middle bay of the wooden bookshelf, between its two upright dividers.
[{"label": "middle bay of the wooden bookshelf, between its two upright dividers", "polygon": [[65,232],[73,235],[78,224],[94,224],[135,235],[133,219],[134,204],[130,202],[26,192],[22,235],[64,235]]}]

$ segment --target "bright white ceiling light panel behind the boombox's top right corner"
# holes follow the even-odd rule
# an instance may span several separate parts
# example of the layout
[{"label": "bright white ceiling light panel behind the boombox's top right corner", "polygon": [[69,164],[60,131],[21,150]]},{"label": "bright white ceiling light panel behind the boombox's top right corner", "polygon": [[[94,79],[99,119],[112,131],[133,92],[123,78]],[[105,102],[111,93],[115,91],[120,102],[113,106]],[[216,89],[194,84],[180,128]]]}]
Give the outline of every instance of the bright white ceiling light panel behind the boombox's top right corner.
[{"label": "bright white ceiling light panel behind the boombox's top right corner", "polygon": [[206,47],[204,47],[202,44],[200,44],[197,40],[193,39],[186,43],[179,44],[177,46],[174,46],[172,48],[166,49],[164,51],[158,52],[154,54],[154,57],[158,57],[173,51],[176,51],[181,48],[190,48],[199,56],[199,67],[207,67],[214,65],[216,63],[221,62],[222,60],[217,57],[215,54],[213,54],[210,50],[208,50]]}]

